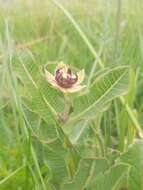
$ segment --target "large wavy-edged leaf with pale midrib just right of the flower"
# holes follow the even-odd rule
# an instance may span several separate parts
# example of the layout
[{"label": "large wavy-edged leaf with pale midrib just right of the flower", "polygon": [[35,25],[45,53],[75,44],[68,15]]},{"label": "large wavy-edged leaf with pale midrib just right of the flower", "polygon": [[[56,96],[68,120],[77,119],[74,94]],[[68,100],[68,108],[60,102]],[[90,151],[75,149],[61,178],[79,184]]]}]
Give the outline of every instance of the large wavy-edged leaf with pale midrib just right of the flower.
[{"label": "large wavy-edged leaf with pale midrib just right of the flower", "polygon": [[128,67],[121,66],[98,77],[87,95],[74,100],[74,113],[69,122],[91,119],[102,112],[109,101],[124,95],[128,90],[128,75]]}]

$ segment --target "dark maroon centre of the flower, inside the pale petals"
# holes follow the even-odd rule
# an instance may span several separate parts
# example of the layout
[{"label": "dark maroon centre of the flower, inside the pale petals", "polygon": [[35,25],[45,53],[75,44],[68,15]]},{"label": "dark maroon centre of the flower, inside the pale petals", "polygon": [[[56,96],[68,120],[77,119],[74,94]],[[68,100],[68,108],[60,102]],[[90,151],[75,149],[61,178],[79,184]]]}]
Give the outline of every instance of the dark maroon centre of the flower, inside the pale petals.
[{"label": "dark maroon centre of the flower, inside the pale petals", "polygon": [[67,70],[67,73],[63,72],[63,69],[58,69],[56,71],[55,80],[57,84],[63,88],[71,88],[78,80],[78,76],[75,73],[72,73],[70,69]]}]

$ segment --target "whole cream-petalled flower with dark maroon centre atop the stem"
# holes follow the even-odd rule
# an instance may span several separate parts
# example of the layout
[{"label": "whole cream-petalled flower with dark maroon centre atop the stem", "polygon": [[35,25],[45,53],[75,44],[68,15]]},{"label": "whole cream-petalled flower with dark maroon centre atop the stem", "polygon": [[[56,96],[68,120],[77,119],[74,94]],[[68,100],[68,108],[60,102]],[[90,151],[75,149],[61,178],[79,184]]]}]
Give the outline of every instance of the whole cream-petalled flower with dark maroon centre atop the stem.
[{"label": "whole cream-petalled flower with dark maroon centre atop the stem", "polygon": [[63,93],[73,93],[80,91],[85,85],[80,85],[84,80],[84,69],[75,73],[63,62],[58,63],[55,75],[45,69],[46,80],[56,89]]}]

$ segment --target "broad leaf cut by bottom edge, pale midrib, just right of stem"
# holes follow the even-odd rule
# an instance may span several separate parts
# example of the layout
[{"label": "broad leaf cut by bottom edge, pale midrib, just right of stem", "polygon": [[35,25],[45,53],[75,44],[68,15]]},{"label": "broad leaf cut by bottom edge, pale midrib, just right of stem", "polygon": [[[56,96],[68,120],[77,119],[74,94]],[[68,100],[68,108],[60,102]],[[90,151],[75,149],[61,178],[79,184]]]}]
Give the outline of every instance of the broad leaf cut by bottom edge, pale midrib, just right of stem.
[{"label": "broad leaf cut by bottom edge, pale midrib, just right of stem", "polygon": [[108,167],[104,159],[82,159],[72,181],[63,185],[61,190],[84,190],[91,185],[94,177],[100,175]]}]

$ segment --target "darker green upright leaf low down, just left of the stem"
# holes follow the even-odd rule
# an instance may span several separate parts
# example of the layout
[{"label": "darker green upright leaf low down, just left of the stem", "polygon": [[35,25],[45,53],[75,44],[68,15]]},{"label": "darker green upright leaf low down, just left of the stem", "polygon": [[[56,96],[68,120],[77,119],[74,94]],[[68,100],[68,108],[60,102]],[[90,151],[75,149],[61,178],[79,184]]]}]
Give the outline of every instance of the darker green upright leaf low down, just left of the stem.
[{"label": "darker green upright leaf low down, just left of the stem", "polygon": [[51,171],[50,182],[59,189],[62,182],[68,179],[68,168],[66,165],[67,150],[57,139],[44,145],[44,162]]}]

